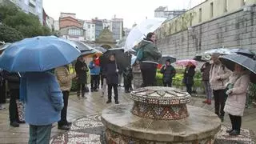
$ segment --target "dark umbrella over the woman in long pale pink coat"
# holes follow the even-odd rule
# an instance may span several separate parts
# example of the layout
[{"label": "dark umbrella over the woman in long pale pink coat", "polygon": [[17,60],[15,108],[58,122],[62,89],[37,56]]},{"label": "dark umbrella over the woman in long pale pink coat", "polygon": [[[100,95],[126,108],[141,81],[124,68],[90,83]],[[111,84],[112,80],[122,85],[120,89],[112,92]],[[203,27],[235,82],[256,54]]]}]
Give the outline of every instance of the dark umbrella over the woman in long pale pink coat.
[{"label": "dark umbrella over the woman in long pale pink coat", "polygon": [[232,71],[234,71],[235,63],[250,70],[250,82],[256,83],[256,61],[252,58],[248,58],[241,54],[231,54],[223,55],[219,59],[226,68]]}]

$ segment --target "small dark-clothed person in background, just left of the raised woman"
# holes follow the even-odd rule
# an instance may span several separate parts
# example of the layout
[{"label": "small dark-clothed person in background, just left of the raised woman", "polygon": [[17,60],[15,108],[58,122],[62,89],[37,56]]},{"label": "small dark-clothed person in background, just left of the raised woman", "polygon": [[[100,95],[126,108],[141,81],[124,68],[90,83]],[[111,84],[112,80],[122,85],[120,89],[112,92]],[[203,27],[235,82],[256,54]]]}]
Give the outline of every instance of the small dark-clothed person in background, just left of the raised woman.
[{"label": "small dark-clothed person in background, just left of the raised woman", "polygon": [[130,90],[133,90],[131,86],[131,81],[133,80],[133,70],[130,66],[126,67],[126,70],[123,71],[123,80],[125,86],[125,92],[130,93]]}]

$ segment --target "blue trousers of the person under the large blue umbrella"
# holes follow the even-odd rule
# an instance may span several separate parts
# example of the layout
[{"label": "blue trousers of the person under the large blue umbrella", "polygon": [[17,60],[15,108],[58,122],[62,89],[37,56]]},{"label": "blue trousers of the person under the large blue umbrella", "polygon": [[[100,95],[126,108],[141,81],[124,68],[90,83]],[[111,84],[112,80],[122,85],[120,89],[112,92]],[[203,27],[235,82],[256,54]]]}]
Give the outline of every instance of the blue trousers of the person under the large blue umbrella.
[{"label": "blue trousers of the person under the large blue umbrella", "polygon": [[52,125],[33,126],[30,125],[29,144],[48,144],[50,143],[50,132]]}]

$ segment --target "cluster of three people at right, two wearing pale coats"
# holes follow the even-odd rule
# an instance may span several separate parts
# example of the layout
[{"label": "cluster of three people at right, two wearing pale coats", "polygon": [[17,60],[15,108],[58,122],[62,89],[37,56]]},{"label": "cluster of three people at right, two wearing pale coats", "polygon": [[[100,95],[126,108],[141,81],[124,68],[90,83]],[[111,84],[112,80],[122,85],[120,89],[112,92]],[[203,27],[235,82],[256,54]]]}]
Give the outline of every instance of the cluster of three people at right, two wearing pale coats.
[{"label": "cluster of three people at right, two wearing pale coats", "polygon": [[246,91],[250,84],[249,71],[235,64],[230,71],[219,60],[220,54],[212,54],[211,62],[206,62],[202,68],[202,82],[206,91],[204,103],[211,104],[214,96],[215,114],[224,121],[225,113],[229,114],[230,135],[240,134],[242,115],[246,107]]}]

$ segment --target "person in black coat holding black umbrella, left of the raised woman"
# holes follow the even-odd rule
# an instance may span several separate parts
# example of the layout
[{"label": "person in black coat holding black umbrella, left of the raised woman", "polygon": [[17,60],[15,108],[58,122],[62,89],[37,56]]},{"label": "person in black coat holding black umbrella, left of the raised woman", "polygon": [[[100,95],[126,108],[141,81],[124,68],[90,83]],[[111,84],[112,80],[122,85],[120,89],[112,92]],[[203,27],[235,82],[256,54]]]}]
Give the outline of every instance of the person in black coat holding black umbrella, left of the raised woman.
[{"label": "person in black coat holding black umbrella, left of the raised woman", "polygon": [[112,88],[114,88],[114,101],[118,104],[118,66],[115,62],[114,54],[110,55],[110,62],[104,66],[103,70],[106,74],[106,84],[108,88],[108,101],[110,103],[112,99]]}]

